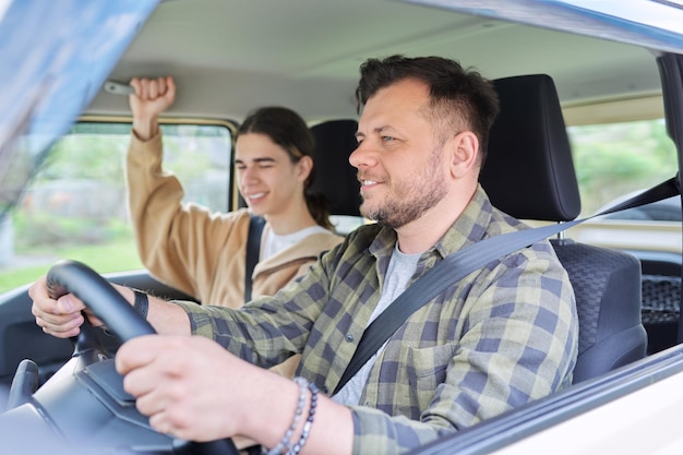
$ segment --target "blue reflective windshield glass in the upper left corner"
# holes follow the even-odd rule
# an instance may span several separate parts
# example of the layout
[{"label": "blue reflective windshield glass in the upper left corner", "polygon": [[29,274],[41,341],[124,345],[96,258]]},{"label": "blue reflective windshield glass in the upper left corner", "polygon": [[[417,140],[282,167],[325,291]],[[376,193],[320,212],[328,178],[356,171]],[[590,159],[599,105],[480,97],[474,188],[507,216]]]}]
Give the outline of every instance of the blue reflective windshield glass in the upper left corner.
[{"label": "blue reflective windshield glass in the upper left corner", "polygon": [[0,218],[158,0],[0,0]]}]

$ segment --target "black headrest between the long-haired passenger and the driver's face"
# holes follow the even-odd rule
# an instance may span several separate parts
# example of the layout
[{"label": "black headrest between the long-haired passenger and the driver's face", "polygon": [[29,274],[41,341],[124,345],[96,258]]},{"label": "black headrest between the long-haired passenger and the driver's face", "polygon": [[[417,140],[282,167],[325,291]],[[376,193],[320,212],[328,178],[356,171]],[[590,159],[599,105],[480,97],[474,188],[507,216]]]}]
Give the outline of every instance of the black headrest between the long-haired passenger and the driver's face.
[{"label": "black headrest between the long-haired passenger and the driver's face", "polygon": [[315,139],[313,191],[332,202],[332,215],[360,215],[360,183],[349,155],[356,149],[356,120],[329,120],[311,127]]}]

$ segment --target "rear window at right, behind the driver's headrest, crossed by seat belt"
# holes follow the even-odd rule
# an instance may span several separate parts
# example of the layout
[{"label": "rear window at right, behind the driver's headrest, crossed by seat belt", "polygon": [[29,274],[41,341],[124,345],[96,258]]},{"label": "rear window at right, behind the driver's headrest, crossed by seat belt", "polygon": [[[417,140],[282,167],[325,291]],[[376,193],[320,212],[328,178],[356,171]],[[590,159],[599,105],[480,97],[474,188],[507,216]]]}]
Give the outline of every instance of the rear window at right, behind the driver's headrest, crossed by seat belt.
[{"label": "rear window at right, behind the driver's headrest, crossed by seat belt", "polygon": [[[567,131],[582,217],[623,202],[676,173],[675,146],[662,119],[578,124]],[[680,254],[680,197],[596,217],[567,229],[567,237],[630,252]]]}]

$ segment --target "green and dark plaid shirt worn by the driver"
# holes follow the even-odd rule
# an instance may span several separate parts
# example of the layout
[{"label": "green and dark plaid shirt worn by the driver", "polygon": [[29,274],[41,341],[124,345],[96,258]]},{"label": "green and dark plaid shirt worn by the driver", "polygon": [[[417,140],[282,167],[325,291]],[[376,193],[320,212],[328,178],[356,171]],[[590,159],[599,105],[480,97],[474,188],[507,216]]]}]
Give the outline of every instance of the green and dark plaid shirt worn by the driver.
[{"label": "green and dark plaid shirt worn by the driver", "polygon": [[[523,229],[481,188],[411,282],[445,255]],[[302,354],[298,374],[329,393],[382,292],[393,229],[362,226],[301,279],[240,310],[182,304],[193,333],[272,367]],[[495,260],[415,312],[374,363],[355,419],[356,454],[395,454],[561,390],[572,381],[574,292],[548,241]]]}]

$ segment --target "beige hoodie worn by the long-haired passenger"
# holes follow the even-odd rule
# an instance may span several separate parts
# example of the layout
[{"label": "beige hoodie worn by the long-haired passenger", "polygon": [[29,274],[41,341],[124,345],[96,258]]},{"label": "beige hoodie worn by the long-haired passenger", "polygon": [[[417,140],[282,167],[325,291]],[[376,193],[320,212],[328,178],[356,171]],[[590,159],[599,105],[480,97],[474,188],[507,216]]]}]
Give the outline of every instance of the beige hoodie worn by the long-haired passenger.
[{"label": "beige hoodie worn by the long-haired passenger", "polygon": [[[161,155],[160,133],[149,141],[131,134],[129,209],[143,264],[159,280],[204,304],[240,308],[244,302],[249,211],[212,213],[182,204],[182,185],[163,170]],[[267,229],[266,224],[263,238]],[[305,273],[321,252],[339,242],[342,237],[332,231],[317,232],[260,262],[252,277],[252,297],[274,295]]]}]

